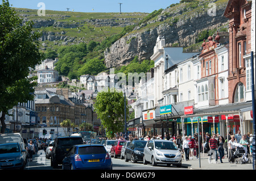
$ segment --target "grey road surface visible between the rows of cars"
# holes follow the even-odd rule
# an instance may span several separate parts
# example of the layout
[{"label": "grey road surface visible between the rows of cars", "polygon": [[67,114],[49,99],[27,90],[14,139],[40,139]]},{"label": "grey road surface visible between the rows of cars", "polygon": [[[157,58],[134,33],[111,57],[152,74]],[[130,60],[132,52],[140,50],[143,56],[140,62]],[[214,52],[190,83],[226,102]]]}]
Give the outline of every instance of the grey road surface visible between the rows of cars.
[{"label": "grey road surface visible between the rows of cars", "polygon": [[[125,162],[124,159],[112,158],[113,170],[184,170],[188,169],[186,164],[183,164],[181,168],[176,166],[158,165],[153,167],[151,164],[143,165],[143,162],[131,163]],[[46,158],[46,154],[43,150],[39,150],[38,154],[34,154],[32,162],[28,162],[25,170],[61,170],[61,165],[56,169],[51,167],[51,160]]]}]

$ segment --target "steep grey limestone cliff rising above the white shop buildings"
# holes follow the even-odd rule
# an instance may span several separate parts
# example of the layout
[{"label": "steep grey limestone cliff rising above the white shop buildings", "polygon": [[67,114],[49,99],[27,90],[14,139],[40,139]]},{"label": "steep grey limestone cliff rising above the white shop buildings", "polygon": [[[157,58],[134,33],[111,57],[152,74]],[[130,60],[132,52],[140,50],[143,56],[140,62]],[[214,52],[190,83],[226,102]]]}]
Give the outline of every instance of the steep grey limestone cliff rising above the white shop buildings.
[{"label": "steep grey limestone cliff rising above the white shop buildings", "polygon": [[107,48],[104,52],[106,67],[127,65],[135,56],[139,60],[150,59],[159,35],[164,36],[169,46],[197,51],[203,41],[203,32],[228,30],[228,19],[223,16],[228,0],[181,2],[184,3],[160,10],[158,16],[135,27],[132,32]]}]

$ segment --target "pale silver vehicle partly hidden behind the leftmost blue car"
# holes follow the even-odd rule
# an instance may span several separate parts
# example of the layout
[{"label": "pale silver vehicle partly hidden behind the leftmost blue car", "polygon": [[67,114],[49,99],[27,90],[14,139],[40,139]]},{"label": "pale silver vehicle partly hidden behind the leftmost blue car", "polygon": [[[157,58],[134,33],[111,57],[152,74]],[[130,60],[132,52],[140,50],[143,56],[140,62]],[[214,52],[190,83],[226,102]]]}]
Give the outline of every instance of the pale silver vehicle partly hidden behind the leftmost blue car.
[{"label": "pale silver vehicle partly hidden behind the leftmost blue car", "polygon": [[[8,133],[8,134],[0,134],[0,144],[7,144],[7,143],[16,143],[18,142],[22,148],[25,150],[22,154],[26,155],[25,158],[28,157],[28,150],[26,149],[26,143],[24,142],[23,137],[20,133]],[[25,160],[27,163],[27,159]]]}]

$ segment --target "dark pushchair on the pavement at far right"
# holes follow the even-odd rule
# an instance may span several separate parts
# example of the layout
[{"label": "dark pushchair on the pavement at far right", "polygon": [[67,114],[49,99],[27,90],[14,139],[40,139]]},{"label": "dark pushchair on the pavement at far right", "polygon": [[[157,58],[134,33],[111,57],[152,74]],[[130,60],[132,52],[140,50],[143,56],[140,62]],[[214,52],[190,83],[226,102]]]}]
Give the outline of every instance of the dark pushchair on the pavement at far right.
[{"label": "dark pushchair on the pavement at far right", "polygon": [[237,145],[237,148],[236,148],[236,151],[232,151],[233,152],[233,155],[232,155],[232,159],[231,160],[234,160],[234,163],[240,163],[240,164],[243,164],[243,163],[251,163],[251,159],[248,158],[248,155],[245,153],[245,148],[238,144]]}]

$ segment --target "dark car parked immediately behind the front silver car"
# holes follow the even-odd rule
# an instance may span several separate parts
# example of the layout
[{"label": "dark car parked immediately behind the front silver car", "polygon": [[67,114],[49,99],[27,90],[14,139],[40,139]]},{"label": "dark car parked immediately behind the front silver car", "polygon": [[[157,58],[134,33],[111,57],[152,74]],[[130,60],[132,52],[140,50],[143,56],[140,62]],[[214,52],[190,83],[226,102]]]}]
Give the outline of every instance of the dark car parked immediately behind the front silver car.
[{"label": "dark car parked immediately behind the front silver car", "polygon": [[144,140],[133,140],[129,146],[125,149],[125,161],[136,163],[137,161],[143,161],[143,150],[146,146],[147,141]]}]

